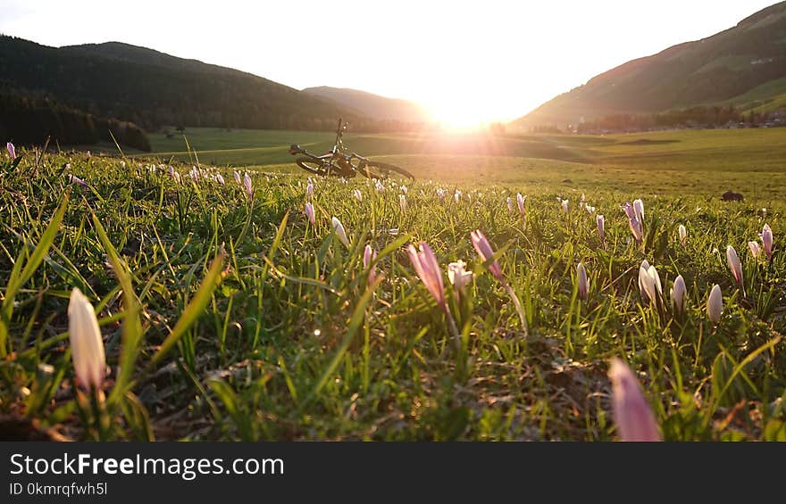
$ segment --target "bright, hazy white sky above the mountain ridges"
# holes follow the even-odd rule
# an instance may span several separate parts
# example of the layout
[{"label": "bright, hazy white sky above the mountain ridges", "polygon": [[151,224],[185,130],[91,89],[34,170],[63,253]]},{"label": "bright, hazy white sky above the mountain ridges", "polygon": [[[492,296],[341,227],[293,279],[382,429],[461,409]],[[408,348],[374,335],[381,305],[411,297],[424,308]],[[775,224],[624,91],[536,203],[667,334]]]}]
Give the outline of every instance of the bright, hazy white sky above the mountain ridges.
[{"label": "bright, hazy white sky above the mountain ridges", "polygon": [[0,32],[110,40],[290,87],[407,98],[441,120],[509,120],[592,76],[708,37],[774,0],[0,0]]}]

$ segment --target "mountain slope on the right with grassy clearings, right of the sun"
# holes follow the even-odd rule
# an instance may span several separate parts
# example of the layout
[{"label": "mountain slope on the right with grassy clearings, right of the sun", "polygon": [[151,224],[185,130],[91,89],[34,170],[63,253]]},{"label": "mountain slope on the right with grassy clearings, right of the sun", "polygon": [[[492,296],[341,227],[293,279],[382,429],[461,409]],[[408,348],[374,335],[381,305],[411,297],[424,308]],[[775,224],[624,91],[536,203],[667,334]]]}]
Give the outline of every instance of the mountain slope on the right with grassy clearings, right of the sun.
[{"label": "mountain slope on the right with grassy clearings, right of the sun", "polygon": [[758,112],[786,106],[786,2],[712,37],[608,70],[513,126],[562,127],[582,118],[730,104]]}]

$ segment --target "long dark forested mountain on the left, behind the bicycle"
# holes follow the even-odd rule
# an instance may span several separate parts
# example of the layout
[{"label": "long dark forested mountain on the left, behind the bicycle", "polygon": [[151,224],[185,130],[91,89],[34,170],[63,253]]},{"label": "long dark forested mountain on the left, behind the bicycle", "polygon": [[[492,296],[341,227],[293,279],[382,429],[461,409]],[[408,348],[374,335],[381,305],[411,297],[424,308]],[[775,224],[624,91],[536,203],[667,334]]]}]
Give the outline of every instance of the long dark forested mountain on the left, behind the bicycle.
[{"label": "long dark forested mountain on the left, behind the bicycle", "polygon": [[143,128],[163,125],[330,130],[376,121],[341,103],[239,70],[108,42],[60,48],[0,37],[0,91]]}]

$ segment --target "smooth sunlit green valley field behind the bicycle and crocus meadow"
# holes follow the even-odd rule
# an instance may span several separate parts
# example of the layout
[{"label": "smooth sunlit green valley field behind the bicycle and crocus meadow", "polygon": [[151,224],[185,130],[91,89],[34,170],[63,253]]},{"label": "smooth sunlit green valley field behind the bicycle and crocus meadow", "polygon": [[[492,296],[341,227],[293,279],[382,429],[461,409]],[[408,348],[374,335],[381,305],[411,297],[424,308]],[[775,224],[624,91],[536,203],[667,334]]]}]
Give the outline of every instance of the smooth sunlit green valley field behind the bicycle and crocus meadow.
[{"label": "smooth sunlit green valley field behind the bicycle and crocus meadow", "polygon": [[[330,133],[213,128],[191,128],[185,136],[196,158],[182,136],[163,134],[151,138],[155,156],[294,173],[289,144],[326,153],[333,142]],[[610,136],[347,135],[345,144],[433,180],[710,197],[734,190],[763,205],[786,193],[786,128]]]}]

